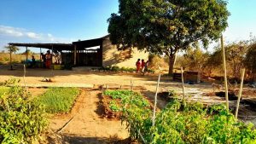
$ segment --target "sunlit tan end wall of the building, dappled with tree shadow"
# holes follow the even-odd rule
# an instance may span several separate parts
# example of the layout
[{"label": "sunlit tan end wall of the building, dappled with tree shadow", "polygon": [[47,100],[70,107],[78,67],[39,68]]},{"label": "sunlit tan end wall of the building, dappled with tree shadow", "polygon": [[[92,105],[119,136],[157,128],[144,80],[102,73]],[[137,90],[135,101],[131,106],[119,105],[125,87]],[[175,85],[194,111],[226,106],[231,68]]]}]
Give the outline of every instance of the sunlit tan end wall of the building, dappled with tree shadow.
[{"label": "sunlit tan end wall of the building, dappled with tree shadow", "polygon": [[109,38],[102,42],[102,66],[119,66],[135,68],[137,59],[148,60],[148,52],[132,50],[118,50]]}]

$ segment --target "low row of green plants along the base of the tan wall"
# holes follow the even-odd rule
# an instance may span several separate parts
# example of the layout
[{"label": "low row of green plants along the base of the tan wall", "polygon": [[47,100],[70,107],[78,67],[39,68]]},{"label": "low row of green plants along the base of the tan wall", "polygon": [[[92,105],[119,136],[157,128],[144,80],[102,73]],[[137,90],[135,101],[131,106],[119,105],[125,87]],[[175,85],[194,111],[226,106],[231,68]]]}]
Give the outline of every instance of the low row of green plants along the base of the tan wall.
[{"label": "low row of green plants along the base of the tan wall", "polygon": [[[136,68],[129,67],[119,67],[119,66],[106,66],[101,68],[92,68],[92,71],[102,71],[102,72],[136,72]],[[154,70],[148,69],[148,72],[154,73]]]}]

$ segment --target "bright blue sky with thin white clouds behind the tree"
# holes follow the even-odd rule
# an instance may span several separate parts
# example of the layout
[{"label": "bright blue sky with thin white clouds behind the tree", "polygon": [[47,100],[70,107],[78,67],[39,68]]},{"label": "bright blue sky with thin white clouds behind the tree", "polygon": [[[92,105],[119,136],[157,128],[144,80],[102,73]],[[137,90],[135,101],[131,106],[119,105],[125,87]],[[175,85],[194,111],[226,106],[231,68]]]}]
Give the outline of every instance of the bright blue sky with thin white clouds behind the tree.
[{"label": "bright blue sky with thin white clouds behind the tree", "polygon": [[[229,0],[226,43],[256,36],[256,0]],[[0,50],[7,43],[71,43],[108,34],[118,0],[0,0]],[[23,49],[21,49],[23,50]]]}]

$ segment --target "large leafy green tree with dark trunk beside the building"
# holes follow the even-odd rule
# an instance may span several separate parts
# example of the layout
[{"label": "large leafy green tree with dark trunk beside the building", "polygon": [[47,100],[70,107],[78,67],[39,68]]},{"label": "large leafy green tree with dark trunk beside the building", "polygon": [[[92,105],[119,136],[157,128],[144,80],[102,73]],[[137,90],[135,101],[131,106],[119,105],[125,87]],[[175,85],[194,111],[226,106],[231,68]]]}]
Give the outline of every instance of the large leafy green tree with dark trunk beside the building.
[{"label": "large leafy green tree with dark trunk beside the building", "polygon": [[169,57],[172,74],[177,51],[201,41],[207,46],[228,26],[224,0],[119,0],[108,32],[119,49],[137,47]]}]

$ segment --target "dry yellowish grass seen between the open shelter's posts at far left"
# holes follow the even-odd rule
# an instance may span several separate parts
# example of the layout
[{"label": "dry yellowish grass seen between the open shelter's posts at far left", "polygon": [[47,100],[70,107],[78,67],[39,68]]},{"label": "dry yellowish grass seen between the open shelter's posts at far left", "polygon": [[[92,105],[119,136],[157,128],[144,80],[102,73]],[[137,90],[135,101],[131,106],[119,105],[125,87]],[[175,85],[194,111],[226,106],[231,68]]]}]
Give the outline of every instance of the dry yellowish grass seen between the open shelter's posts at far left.
[{"label": "dry yellowish grass seen between the open shelter's posts at far left", "polygon": [[[39,60],[40,55],[35,54],[35,59]],[[27,59],[32,59],[32,55],[28,55]],[[13,54],[12,61],[13,63],[22,63],[22,61],[26,60],[26,55],[22,54]],[[0,53],[0,64],[8,64],[9,63],[9,53]]]}]

